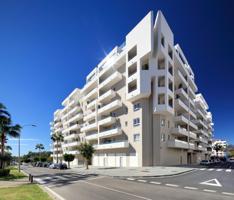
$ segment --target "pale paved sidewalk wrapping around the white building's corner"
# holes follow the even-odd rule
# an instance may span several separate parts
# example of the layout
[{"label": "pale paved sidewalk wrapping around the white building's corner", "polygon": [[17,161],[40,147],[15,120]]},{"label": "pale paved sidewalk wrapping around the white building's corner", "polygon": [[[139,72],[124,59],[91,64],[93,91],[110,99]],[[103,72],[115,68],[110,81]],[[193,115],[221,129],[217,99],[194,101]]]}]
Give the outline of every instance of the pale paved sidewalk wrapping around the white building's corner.
[{"label": "pale paved sidewalk wrapping around the white building's corner", "polygon": [[112,177],[144,177],[144,176],[172,176],[183,174],[195,170],[188,167],[137,167],[137,168],[115,168],[115,167],[90,167],[86,170],[84,167],[71,169],[74,172],[83,174],[99,174]]}]

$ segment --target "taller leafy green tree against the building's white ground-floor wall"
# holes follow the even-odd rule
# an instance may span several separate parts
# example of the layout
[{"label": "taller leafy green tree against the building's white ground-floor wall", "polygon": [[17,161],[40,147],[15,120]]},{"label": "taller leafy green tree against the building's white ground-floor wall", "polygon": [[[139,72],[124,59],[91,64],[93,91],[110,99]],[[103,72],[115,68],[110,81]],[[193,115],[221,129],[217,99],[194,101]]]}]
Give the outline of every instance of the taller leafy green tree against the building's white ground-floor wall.
[{"label": "taller leafy green tree against the building's white ground-floor wall", "polygon": [[80,155],[85,159],[85,165],[86,169],[89,168],[89,162],[91,161],[93,154],[95,152],[95,149],[91,144],[88,143],[81,143],[80,146],[78,146],[78,150],[80,151]]}]

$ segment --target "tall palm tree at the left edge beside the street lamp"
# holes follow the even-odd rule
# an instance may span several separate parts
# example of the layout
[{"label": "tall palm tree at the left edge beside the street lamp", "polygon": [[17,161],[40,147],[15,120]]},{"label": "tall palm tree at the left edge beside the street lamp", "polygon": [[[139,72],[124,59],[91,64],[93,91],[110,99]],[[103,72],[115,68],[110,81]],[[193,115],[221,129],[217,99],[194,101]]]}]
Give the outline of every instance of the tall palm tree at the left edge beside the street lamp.
[{"label": "tall palm tree at the left edge beside the street lamp", "polygon": [[[0,142],[1,142],[1,156],[5,154],[5,144],[7,143],[7,136],[19,137],[21,126],[19,124],[13,125],[11,121],[11,115],[6,110],[6,107],[0,103]],[[5,160],[2,159],[0,162],[0,169],[4,168]]]}]

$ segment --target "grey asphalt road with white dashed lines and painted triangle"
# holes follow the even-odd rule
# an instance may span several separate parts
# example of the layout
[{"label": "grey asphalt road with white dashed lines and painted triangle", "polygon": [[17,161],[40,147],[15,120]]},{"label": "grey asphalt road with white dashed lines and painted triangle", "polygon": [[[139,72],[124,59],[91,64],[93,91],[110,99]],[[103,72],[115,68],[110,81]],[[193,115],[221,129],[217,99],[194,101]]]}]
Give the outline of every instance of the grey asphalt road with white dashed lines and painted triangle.
[{"label": "grey asphalt road with white dashed lines and painted triangle", "polygon": [[[129,177],[128,180],[123,180],[81,174],[72,170],[24,167],[24,171],[33,174],[41,184],[66,200],[233,200],[234,170],[231,172],[226,172],[226,169],[216,170],[208,171],[201,168],[174,177],[141,179]],[[200,184],[213,178],[216,178],[222,187]]]}]

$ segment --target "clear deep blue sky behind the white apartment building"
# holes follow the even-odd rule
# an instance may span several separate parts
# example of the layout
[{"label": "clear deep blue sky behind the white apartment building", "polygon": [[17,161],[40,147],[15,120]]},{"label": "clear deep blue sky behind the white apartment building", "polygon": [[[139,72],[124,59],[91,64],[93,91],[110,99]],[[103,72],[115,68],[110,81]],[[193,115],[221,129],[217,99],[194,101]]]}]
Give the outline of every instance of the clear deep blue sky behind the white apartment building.
[{"label": "clear deep blue sky behind the white apartment building", "polygon": [[50,149],[53,112],[150,10],[162,10],[182,47],[214,137],[234,143],[234,1],[0,0],[0,102],[14,123],[37,126],[23,128],[22,154]]}]

